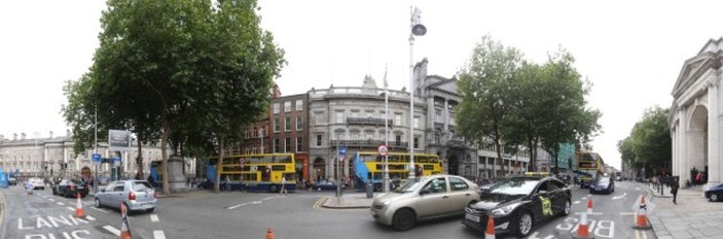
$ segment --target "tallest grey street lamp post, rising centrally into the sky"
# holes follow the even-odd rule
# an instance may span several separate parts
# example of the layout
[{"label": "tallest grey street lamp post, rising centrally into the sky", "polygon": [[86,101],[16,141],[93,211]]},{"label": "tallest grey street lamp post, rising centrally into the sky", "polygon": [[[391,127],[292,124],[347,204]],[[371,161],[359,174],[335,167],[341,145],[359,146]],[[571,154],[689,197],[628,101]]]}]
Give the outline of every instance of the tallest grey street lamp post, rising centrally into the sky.
[{"label": "tallest grey street lamp post, rising centrally into the sky", "polygon": [[427,28],[422,24],[422,12],[418,8],[412,8],[412,18],[409,26],[409,179],[415,178],[416,169],[414,168],[414,36],[424,36]]}]

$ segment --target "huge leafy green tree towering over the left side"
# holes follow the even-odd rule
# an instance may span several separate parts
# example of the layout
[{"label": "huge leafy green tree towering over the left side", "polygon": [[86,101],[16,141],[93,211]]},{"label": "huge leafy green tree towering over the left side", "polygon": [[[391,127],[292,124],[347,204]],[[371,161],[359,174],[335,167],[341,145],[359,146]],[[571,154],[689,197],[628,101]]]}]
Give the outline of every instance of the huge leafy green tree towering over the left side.
[{"label": "huge leafy green tree towering over the left side", "polygon": [[[139,141],[200,156],[266,110],[284,51],[259,27],[254,0],[109,0],[90,72],[68,82],[63,114],[82,143],[91,109],[99,129],[128,129]],[[87,145],[87,143],[86,143]],[[214,149],[214,147],[219,147]],[[139,157],[140,159],[140,150]],[[218,181],[218,180],[217,180]],[[168,193],[168,177],[164,177]]]}]

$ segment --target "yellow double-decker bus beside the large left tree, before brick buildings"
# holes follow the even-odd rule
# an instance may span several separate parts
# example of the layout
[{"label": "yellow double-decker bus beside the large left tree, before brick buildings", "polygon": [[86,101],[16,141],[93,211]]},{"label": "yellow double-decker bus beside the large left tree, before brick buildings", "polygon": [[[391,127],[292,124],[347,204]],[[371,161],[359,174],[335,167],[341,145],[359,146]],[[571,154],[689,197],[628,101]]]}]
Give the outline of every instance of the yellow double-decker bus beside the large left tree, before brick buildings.
[{"label": "yellow double-decker bus beside the large left tree, before brick buildings", "polygon": [[[208,179],[214,181],[218,157],[210,158],[207,167]],[[221,161],[220,183],[230,178],[230,189],[248,191],[278,192],[284,187],[296,190],[296,161],[294,153],[235,155]]]}]

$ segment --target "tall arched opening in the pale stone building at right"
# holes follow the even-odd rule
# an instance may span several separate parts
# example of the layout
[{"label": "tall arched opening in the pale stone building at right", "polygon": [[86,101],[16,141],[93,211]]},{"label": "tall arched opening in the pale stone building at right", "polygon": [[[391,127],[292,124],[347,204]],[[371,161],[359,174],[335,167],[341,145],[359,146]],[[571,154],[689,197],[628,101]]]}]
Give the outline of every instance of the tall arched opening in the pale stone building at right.
[{"label": "tall arched opening in the pale stone building at right", "polygon": [[687,170],[691,170],[690,180],[695,182],[695,175],[692,172],[701,171],[703,182],[707,181],[707,109],[704,106],[696,106],[691,114],[690,131],[687,133],[689,159]]}]

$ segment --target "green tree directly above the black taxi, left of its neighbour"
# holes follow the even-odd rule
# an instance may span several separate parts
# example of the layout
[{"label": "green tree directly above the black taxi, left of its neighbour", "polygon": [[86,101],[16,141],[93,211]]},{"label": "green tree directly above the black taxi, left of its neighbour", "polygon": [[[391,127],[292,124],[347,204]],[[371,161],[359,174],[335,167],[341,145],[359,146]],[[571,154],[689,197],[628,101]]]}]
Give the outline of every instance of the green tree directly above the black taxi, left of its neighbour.
[{"label": "green tree directly above the black taxi, left of its neighbour", "polygon": [[457,135],[476,145],[494,143],[503,175],[505,123],[511,117],[513,78],[522,64],[522,53],[506,48],[489,36],[474,48],[469,62],[460,70],[457,90],[460,103],[455,111]]}]

